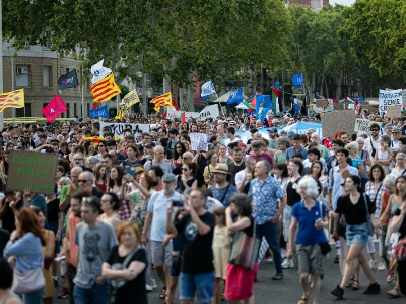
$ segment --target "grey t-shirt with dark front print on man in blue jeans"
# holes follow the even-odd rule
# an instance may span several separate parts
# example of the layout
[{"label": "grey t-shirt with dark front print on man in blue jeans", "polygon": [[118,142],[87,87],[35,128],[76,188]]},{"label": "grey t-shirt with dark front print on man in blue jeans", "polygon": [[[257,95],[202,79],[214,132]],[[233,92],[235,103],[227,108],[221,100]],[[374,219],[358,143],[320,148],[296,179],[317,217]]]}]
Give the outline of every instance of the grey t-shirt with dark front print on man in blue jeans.
[{"label": "grey t-shirt with dark front print on man in blue jeans", "polygon": [[75,245],[79,246],[79,259],[74,283],[82,288],[92,287],[101,275],[101,265],[117,244],[116,233],[111,225],[100,222],[90,229],[85,222],[78,223]]}]

